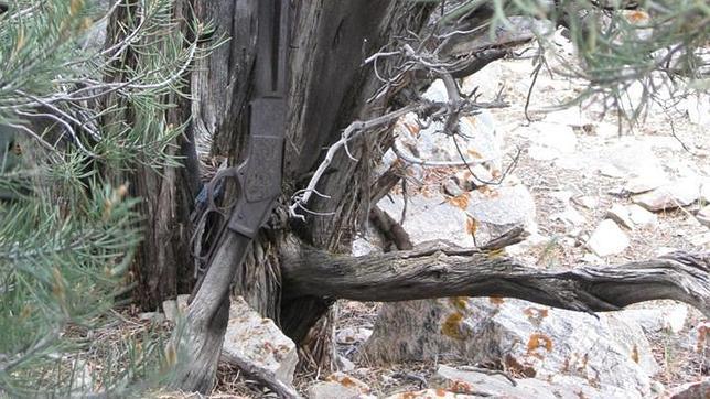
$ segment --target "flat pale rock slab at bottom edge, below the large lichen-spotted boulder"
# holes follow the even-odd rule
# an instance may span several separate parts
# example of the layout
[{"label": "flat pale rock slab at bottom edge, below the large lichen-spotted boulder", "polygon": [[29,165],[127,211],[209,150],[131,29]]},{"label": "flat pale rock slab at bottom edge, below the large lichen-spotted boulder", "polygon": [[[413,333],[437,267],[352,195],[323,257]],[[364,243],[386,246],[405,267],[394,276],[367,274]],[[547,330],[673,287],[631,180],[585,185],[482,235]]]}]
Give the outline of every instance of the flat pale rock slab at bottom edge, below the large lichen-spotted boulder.
[{"label": "flat pale rock slab at bottom edge, below the large lichen-spotted boulder", "polygon": [[601,399],[612,395],[614,397],[625,398],[639,397],[637,393],[634,395],[635,392],[626,392],[611,386],[604,386],[602,391],[580,377],[550,376],[547,380],[519,378],[515,380],[516,385],[514,386],[507,378],[501,375],[458,370],[443,365],[439,366],[432,381],[440,389],[464,395],[469,393],[475,398]]}]

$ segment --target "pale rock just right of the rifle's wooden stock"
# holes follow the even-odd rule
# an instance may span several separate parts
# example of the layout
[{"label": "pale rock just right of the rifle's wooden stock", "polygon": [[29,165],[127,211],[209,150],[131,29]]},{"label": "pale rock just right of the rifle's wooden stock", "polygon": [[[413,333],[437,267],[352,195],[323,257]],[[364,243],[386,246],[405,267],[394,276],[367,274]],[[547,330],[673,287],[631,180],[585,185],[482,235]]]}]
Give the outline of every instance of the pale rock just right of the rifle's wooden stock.
[{"label": "pale rock just right of the rifle's wooden stock", "polygon": [[295,344],[272,320],[261,317],[241,296],[233,300],[229,306],[222,356],[227,362],[230,357],[248,360],[259,369],[273,373],[287,385],[292,384],[299,362]]}]

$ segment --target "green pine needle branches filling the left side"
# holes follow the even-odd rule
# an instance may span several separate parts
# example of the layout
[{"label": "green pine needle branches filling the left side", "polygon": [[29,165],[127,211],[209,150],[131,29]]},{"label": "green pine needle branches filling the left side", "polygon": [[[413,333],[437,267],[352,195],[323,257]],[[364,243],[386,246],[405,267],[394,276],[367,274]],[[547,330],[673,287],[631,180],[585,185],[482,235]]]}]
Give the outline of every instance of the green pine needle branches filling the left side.
[{"label": "green pine needle branches filling the left side", "polygon": [[[121,172],[179,164],[182,127],[166,115],[209,51],[186,37],[208,26],[173,8],[32,0],[0,15],[0,395],[123,396],[161,376],[160,334],[114,346],[86,336],[130,289],[139,199]],[[117,40],[93,45],[107,21]],[[77,385],[89,348],[103,354],[100,384]]]}]

